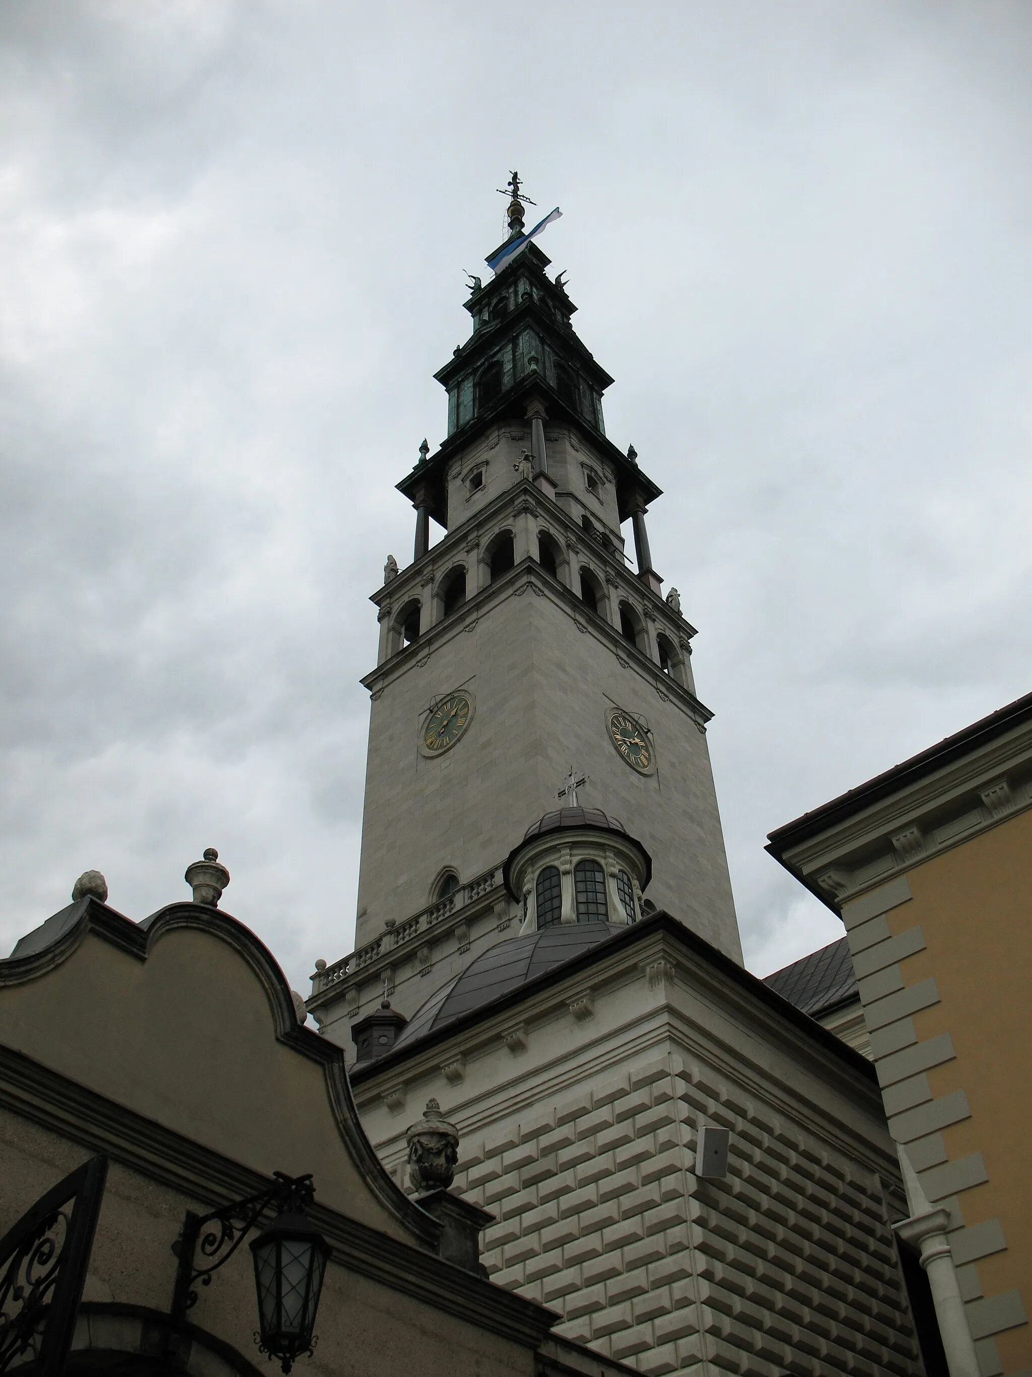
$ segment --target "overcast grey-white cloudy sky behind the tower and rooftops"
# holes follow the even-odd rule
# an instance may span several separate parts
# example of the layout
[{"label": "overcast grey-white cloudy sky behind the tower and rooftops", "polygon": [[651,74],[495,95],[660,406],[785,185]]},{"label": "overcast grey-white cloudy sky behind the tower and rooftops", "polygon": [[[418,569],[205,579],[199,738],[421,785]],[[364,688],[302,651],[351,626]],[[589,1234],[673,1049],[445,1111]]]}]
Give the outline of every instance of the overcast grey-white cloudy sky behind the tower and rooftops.
[{"label": "overcast grey-white cloudy sky behind the tower and rooftops", "polygon": [[216,845],[296,987],[351,950],[366,599],[513,167],[666,493],[747,964],[841,935],[766,832],[1032,687],[1031,66],[987,0],[3,0],[0,946]]}]

